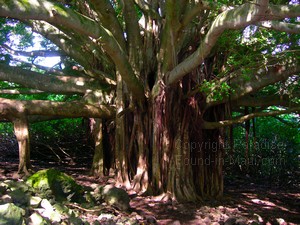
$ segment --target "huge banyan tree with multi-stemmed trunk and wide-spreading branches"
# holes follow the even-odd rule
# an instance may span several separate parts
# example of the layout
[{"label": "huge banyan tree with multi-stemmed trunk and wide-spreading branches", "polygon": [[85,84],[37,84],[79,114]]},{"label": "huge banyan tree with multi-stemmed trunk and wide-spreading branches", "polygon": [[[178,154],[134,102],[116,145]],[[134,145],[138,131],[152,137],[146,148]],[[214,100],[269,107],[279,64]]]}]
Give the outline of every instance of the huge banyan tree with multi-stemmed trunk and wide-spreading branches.
[{"label": "huge banyan tree with multi-stemmed trunk and wide-spreading branches", "polygon": [[[23,123],[33,115],[102,118],[95,130],[113,140],[117,181],[137,192],[221,197],[224,127],[299,112],[298,1],[0,3],[4,28],[25,26],[53,43],[24,52],[7,32],[0,79],[27,93],[66,96],[2,98],[1,115]],[[17,55],[31,57],[31,64],[16,62]],[[50,55],[62,62],[35,65],[37,56]],[[104,164],[94,171],[103,173]]]}]

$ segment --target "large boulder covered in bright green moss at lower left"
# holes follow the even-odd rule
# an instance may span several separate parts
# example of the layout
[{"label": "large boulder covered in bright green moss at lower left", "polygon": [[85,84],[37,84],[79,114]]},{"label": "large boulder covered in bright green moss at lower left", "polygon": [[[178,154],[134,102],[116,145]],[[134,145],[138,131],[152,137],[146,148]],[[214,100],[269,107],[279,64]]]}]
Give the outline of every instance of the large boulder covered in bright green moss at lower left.
[{"label": "large boulder covered in bright green moss at lower left", "polygon": [[26,183],[43,198],[56,201],[83,202],[83,187],[67,174],[55,169],[40,170],[30,176]]}]

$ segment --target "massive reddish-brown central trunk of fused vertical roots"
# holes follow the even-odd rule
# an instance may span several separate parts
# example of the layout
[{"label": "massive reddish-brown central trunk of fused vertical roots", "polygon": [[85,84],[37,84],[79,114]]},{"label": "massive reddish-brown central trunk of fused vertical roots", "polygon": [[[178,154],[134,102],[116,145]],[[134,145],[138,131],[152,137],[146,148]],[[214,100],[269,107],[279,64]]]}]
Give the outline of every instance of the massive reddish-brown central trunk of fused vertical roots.
[{"label": "massive reddish-brown central trunk of fused vertical roots", "polygon": [[[157,84],[152,99],[117,116],[118,182],[164,199],[198,201],[223,194],[223,131],[202,129],[224,119],[224,106],[203,112],[202,96]],[[124,111],[119,105],[118,111]],[[204,114],[204,115],[203,115]],[[126,148],[124,148],[126,146]]]}]

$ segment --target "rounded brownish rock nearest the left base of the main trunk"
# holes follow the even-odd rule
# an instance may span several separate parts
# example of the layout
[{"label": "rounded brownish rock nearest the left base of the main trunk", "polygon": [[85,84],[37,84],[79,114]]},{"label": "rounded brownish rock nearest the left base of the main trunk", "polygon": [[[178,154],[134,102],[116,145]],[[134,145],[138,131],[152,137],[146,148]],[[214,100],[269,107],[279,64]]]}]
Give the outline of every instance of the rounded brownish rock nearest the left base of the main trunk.
[{"label": "rounded brownish rock nearest the left base of the main trunk", "polygon": [[102,195],[108,205],[115,206],[120,210],[128,210],[130,208],[129,195],[122,188],[106,185],[102,190]]}]

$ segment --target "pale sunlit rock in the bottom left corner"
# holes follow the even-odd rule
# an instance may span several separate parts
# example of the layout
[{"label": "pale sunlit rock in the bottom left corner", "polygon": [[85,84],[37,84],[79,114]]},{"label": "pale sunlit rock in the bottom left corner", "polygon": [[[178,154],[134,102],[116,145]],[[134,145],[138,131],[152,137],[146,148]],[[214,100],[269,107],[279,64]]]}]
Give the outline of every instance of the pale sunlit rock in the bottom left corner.
[{"label": "pale sunlit rock in the bottom left corner", "polygon": [[14,205],[13,203],[6,203],[4,205],[0,205],[1,225],[22,225],[24,224],[24,215],[25,210]]}]

